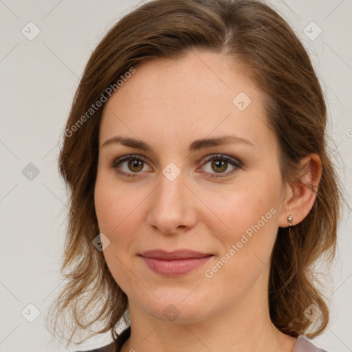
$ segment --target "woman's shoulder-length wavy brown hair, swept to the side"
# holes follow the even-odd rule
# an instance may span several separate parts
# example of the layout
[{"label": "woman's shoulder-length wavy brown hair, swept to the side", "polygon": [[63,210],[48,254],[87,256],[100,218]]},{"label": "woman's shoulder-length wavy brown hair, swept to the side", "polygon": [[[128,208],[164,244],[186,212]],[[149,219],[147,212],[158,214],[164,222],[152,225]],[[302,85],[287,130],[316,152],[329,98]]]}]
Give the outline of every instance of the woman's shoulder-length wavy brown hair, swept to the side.
[{"label": "woman's shoulder-length wavy brown hair, swept to the side", "polygon": [[[341,192],[327,155],[325,99],[307,52],[283,18],[260,1],[155,0],[120,19],[91,54],[63,136],[59,168],[70,195],[62,265],[67,283],[52,316],[56,331],[58,318],[68,313],[69,340],[96,322],[102,325],[94,333],[111,331],[114,337],[128,308],[126,294],[111,276],[102,252],[92,245],[100,232],[94,185],[102,109],[84,124],[77,122],[133,65],[153,58],[181,58],[192,48],[216,52],[248,69],[265,96],[285,182],[299,179],[300,159],[309,153],[320,156],[322,177],[314,190],[313,208],[301,223],[278,229],[269,305],[272,322],[287,335],[314,337],[327,326],[329,310],[314,285],[312,265],[322,254],[333,258]],[[311,304],[322,312],[314,329],[304,314]]]}]

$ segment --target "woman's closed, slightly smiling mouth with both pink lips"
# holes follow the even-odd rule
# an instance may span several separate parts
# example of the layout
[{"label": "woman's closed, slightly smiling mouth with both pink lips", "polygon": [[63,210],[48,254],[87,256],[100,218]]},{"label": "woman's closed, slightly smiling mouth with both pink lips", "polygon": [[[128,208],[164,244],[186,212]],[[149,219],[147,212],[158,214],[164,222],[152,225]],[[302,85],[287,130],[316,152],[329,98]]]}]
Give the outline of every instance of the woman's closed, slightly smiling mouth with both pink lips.
[{"label": "woman's closed, slightly smiling mouth with both pink lips", "polygon": [[179,276],[188,274],[203,266],[213,254],[192,250],[166,252],[152,250],[139,254],[147,267],[162,276]]}]

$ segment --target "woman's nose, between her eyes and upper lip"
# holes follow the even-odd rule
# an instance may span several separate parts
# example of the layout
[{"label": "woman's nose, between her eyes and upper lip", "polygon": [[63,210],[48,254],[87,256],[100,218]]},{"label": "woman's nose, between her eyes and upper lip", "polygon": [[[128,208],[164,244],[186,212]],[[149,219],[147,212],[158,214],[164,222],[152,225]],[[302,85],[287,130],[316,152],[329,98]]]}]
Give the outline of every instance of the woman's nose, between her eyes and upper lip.
[{"label": "woman's nose, between her eyes and upper lip", "polygon": [[196,199],[185,181],[182,173],[173,181],[160,173],[159,184],[149,197],[147,221],[153,228],[172,234],[195,225]]}]

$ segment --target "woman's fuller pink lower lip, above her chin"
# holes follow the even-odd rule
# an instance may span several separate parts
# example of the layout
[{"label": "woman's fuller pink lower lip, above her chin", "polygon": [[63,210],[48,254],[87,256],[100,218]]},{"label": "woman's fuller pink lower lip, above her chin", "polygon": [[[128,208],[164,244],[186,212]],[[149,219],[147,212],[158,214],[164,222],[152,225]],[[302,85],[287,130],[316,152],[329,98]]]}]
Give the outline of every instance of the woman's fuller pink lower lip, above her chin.
[{"label": "woman's fuller pink lower lip, above her chin", "polygon": [[146,265],[156,272],[164,276],[179,276],[188,274],[193,270],[198,269],[204,265],[212,256],[203,256],[203,258],[190,258],[190,259],[179,259],[175,261],[164,261],[162,259],[146,258],[142,256],[142,259],[146,262]]}]

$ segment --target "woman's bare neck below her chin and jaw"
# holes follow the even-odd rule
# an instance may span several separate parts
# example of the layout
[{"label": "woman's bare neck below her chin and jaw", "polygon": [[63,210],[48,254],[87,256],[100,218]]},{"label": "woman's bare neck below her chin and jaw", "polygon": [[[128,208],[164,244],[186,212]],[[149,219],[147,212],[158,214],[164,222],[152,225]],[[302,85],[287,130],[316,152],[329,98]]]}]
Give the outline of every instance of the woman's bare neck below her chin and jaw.
[{"label": "woman's bare neck below her chin and jaw", "polygon": [[129,313],[131,337],[121,352],[291,352],[297,340],[274,327],[265,297],[248,295],[231,309],[206,312],[206,318],[196,322],[160,320],[133,302]]}]

